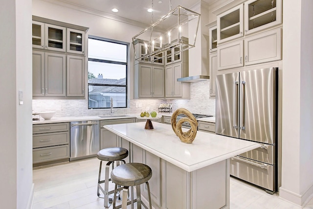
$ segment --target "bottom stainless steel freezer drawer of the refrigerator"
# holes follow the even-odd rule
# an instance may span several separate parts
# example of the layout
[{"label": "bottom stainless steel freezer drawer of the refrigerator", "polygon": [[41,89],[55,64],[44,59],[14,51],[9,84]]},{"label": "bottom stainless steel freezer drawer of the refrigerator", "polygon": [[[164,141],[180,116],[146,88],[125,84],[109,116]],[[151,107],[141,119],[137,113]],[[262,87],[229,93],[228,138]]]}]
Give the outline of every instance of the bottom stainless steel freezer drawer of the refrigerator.
[{"label": "bottom stainless steel freezer drawer of the refrigerator", "polygon": [[275,190],[275,166],[235,156],[230,158],[230,175],[268,190]]}]

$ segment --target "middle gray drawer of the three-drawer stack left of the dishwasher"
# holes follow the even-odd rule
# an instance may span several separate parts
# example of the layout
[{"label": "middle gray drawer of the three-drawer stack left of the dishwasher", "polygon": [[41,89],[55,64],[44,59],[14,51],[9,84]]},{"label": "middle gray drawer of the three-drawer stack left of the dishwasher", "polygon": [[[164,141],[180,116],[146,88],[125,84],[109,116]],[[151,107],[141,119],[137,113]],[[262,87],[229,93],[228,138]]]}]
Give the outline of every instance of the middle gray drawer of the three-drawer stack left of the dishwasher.
[{"label": "middle gray drawer of the three-drawer stack left of the dishwasher", "polygon": [[68,143],[69,143],[69,132],[33,135],[33,148],[62,145]]}]

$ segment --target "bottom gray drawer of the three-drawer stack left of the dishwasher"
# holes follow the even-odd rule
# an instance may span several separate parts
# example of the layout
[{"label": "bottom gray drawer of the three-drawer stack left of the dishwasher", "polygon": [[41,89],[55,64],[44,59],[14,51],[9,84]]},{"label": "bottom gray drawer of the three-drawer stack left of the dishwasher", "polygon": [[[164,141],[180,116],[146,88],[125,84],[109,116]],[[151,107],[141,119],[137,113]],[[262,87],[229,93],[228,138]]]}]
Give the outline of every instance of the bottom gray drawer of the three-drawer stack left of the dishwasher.
[{"label": "bottom gray drawer of the three-drawer stack left of the dishwasher", "polygon": [[33,163],[69,158],[69,145],[33,149]]}]

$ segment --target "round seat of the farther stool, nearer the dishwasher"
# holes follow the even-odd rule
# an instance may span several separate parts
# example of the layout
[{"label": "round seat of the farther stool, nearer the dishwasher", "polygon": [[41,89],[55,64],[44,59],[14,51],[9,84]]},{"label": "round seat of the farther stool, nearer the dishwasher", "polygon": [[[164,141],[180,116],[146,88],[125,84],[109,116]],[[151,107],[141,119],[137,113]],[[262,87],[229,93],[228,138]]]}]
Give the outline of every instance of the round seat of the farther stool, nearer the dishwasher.
[{"label": "round seat of the farther stool, nearer the dishwasher", "polygon": [[97,158],[101,161],[120,161],[128,156],[128,150],[122,147],[109,147],[98,152]]}]

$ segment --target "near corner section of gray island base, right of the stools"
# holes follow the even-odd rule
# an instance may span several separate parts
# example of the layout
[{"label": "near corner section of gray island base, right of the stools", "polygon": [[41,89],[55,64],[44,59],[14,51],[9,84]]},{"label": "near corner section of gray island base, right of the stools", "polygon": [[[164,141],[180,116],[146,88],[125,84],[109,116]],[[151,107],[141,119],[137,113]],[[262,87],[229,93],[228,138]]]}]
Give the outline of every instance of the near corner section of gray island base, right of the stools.
[{"label": "near corner section of gray island base, right of the stools", "polygon": [[164,209],[229,209],[229,159],[187,172],[164,162]]}]

